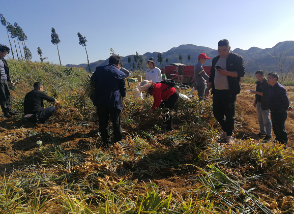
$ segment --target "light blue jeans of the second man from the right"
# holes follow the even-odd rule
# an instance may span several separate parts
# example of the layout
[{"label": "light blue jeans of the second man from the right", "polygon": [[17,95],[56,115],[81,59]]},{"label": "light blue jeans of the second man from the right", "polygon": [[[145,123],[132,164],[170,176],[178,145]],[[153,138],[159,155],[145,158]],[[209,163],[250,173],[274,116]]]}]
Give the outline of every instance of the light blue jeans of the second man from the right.
[{"label": "light blue jeans of the second man from the right", "polygon": [[261,103],[256,103],[256,114],[259,123],[260,133],[272,136],[272,122],[270,119],[270,109],[261,110]]}]

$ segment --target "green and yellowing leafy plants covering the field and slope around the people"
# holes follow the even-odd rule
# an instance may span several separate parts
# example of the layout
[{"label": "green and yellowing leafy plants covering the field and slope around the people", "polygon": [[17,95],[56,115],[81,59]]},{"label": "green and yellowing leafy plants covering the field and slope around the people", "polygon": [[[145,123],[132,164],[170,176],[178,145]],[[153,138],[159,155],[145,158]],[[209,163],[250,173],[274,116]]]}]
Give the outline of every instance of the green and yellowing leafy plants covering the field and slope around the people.
[{"label": "green and yellowing leafy plants covering the field and slope around the people", "polygon": [[[82,126],[95,119],[95,108],[81,86],[88,81],[85,70],[13,59],[8,64],[16,83],[14,109],[21,110],[23,96],[40,81],[45,93],[62,102],[53,123],[59,118],[69,126]],[[143,72],[131,76],[136,75]],[[253,81],[243,81],[247,78]],[[130,90],[135,86],[131,83]],[[99,134],[82,149],[69,149],[67,133],[43,133],[50,143],[38,141],[29,165],[1,174],[1,213],[293,211],[292,150],[251,139],[233,145],[217,142],[219,126],[211,100],[179,100],[173,133],[158,125],[166,113],[163,109],[148,114],[152,97],[141,101],[127,93],[124,103],[125,137],[109,149],[100,147]],[[237,119],[244,124],[242,117]],[[168,186],[173,179],[178,179],[178,187]]]}]

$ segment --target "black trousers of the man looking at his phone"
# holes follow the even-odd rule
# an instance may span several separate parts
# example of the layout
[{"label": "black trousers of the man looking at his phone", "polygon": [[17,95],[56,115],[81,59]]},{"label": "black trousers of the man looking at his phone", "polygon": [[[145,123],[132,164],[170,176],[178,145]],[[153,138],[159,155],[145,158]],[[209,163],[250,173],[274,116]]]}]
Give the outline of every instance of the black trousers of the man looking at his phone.
[{"label": "black trousers of the man looking at his phone", "polygon": [[214,91],[213,114],[227,136],[232,136],[234,131],[236,100],[237,96],[231,96],[230,90]]}]

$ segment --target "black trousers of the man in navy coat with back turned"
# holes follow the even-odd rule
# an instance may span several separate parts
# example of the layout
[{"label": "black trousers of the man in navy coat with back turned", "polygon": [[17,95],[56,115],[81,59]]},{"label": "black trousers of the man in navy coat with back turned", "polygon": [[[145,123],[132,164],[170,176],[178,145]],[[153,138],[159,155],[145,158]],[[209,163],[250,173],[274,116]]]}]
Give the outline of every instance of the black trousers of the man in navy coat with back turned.
[{"label": "black trousers of the man in navy coat with back turned", "polygon": [[96,108],[98,113],[99,131],[101,133],[103,143],[111,143],[109,135],[109,116],[112,122],[114,143],[121,141],[123,139],[121,127],[121,110],[115,107],[101,104],[97,104]]}]

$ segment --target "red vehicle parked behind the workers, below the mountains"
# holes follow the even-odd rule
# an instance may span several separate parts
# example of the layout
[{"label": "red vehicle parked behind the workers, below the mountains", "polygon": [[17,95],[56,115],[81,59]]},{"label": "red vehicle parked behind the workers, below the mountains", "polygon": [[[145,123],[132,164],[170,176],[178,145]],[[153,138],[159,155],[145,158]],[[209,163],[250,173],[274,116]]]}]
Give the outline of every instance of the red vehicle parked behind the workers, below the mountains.
[{"label": "red vehicle parked behind the workers, below the mountains", "polygon": [[[210,76],[211,66],[203,66],[205,73]],[[174,81],[181,82],[183,84],[194,87],[194,66],[186,66],[184,64],[176,63],[170,66],[165,66],[162,69],[162,73],[165,74],[167,79],[174,79]]]}]

